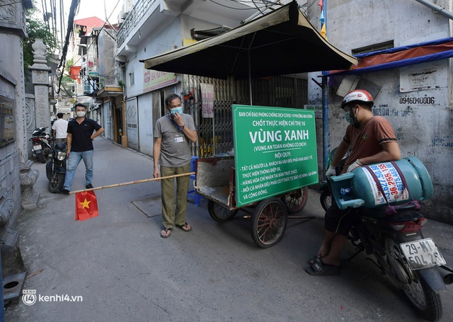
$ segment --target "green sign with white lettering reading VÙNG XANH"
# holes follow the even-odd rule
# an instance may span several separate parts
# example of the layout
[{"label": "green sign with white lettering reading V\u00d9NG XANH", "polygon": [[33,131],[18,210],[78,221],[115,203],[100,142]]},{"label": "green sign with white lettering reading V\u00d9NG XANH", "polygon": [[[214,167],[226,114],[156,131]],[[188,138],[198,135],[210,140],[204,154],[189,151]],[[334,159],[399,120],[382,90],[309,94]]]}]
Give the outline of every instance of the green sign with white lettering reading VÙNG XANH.
[{"label": "green sign with white lettering reading V\u00d9NG XANH", "polygon": [[239,207],[318,183],[313,110],[233,105]]}]

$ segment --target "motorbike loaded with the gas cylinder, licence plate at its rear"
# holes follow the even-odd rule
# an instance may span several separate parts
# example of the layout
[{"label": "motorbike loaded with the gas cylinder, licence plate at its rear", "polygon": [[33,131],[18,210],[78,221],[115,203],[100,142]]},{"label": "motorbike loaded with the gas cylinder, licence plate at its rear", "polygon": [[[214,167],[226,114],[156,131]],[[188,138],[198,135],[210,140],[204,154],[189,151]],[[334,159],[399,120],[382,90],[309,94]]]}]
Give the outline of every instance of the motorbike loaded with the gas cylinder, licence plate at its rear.
[{"label": "motorbike loaded with the gas cylinder, licence plate at its rear", "polygon": [[[337,173],[340,173],[339,170],[337,169]],[[353,177],[350,173],[343,176]],[[335,182],[340,177],[342,176],[328,180],[325,190],[331,202],[336,202],[339,206],[353,190],[346,188],[336,191],[338,186]],[[404,179],[403,182],[409,190]],[[357,181],[355,184],[355,189],[360,190]],[[425,184],[428,185],[428,178],[425,178]],[[408,193],[411,195],[411,192]],[[350,208],[354,212],[355,223],[348,239],[355,246],[355,252],[350,254],[348,260],[364,251],[367,255],[372,255],[374,259],[367,259],[383,275],[390,277],[411,301],[418,314],[427,321],[438,321],[442,317],[440,292],[447,289],[447,284],[453,283],[453,270],[446,266],[435,241],[423,236],[422,227],[428,220],[420,213],[418,202],[412,200],[404,205],[396,205],[390,212],[389,207],[392,206],[387,201],[387,205],[378,207]]]}]

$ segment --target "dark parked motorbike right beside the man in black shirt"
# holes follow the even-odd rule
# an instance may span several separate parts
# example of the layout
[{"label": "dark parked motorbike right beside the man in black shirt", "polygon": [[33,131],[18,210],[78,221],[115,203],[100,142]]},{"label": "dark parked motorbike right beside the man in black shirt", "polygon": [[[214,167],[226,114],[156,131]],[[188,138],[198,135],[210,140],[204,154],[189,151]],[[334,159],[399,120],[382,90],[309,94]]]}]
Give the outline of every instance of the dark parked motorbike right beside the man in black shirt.
[{"label": "dark parked motorbike right beside the man in black shirt", "polygon": [[49,180],[49,191],[61,191],[66,177],[66,143],[52,144],[52,158],[47,161],[45,172]]}]

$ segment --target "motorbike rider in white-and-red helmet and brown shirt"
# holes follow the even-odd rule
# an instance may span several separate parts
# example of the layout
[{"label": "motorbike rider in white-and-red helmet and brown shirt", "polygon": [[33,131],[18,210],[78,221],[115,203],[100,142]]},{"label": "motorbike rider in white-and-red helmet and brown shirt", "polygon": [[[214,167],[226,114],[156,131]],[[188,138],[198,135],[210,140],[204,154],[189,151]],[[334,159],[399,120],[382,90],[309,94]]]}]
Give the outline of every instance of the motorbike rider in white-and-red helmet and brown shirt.
[{"label": "motorbike rider in white-and-red helmet and brown shirt", "polygon": [[[351,172],[366,164],[401,159],[396,135],[390,122],[384,117],[374,116],[373,105],[371,94],[360,89],[351,91],[343,98],[340,107],[345,111],[345,118],[350,124],[326,172],[327,178],[336,176],[336,166],[348,149],[351,151],[342,173]],[[306,272],[321,276],[340,273],[340,253],[348,240],[354,213],[350,208],[340,210],[336,202],[333,202],[324,217],[326,235],[323,243],[318,254],[308,261]]]}]

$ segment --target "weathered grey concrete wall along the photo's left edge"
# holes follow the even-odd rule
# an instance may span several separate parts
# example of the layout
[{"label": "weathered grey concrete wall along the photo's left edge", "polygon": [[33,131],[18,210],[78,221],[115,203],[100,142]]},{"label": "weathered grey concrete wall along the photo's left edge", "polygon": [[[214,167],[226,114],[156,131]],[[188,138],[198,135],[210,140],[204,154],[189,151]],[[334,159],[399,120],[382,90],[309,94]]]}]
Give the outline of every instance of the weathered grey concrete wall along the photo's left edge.
[{"label": "weathered grey concrete wall along the photo's left edge", "polygon": [[[0,50],[0,97],[2,103],[12,102],[13,132],[15,140],[0,146],[0,242],[17,246],[16,220],[21,213],[21,166],[28,163],[27,139],[25,137],[25,89],[23,76],[23,50],[21,35],[25,20],[21,4],[11,4],[18,16],[0,14],[0,43],[7,44]],[[25,17],[23,17],[25,19]],[[9,108],[9,106],[8,106]],[[7,109],[8,109],[7,108]],[[11,127],[11,115],[1,111],[1,118],[8,117],[6,127]],[[2,120],[3,121],[3,120]],[[7,132],[11,128],[4,128]]]}]

